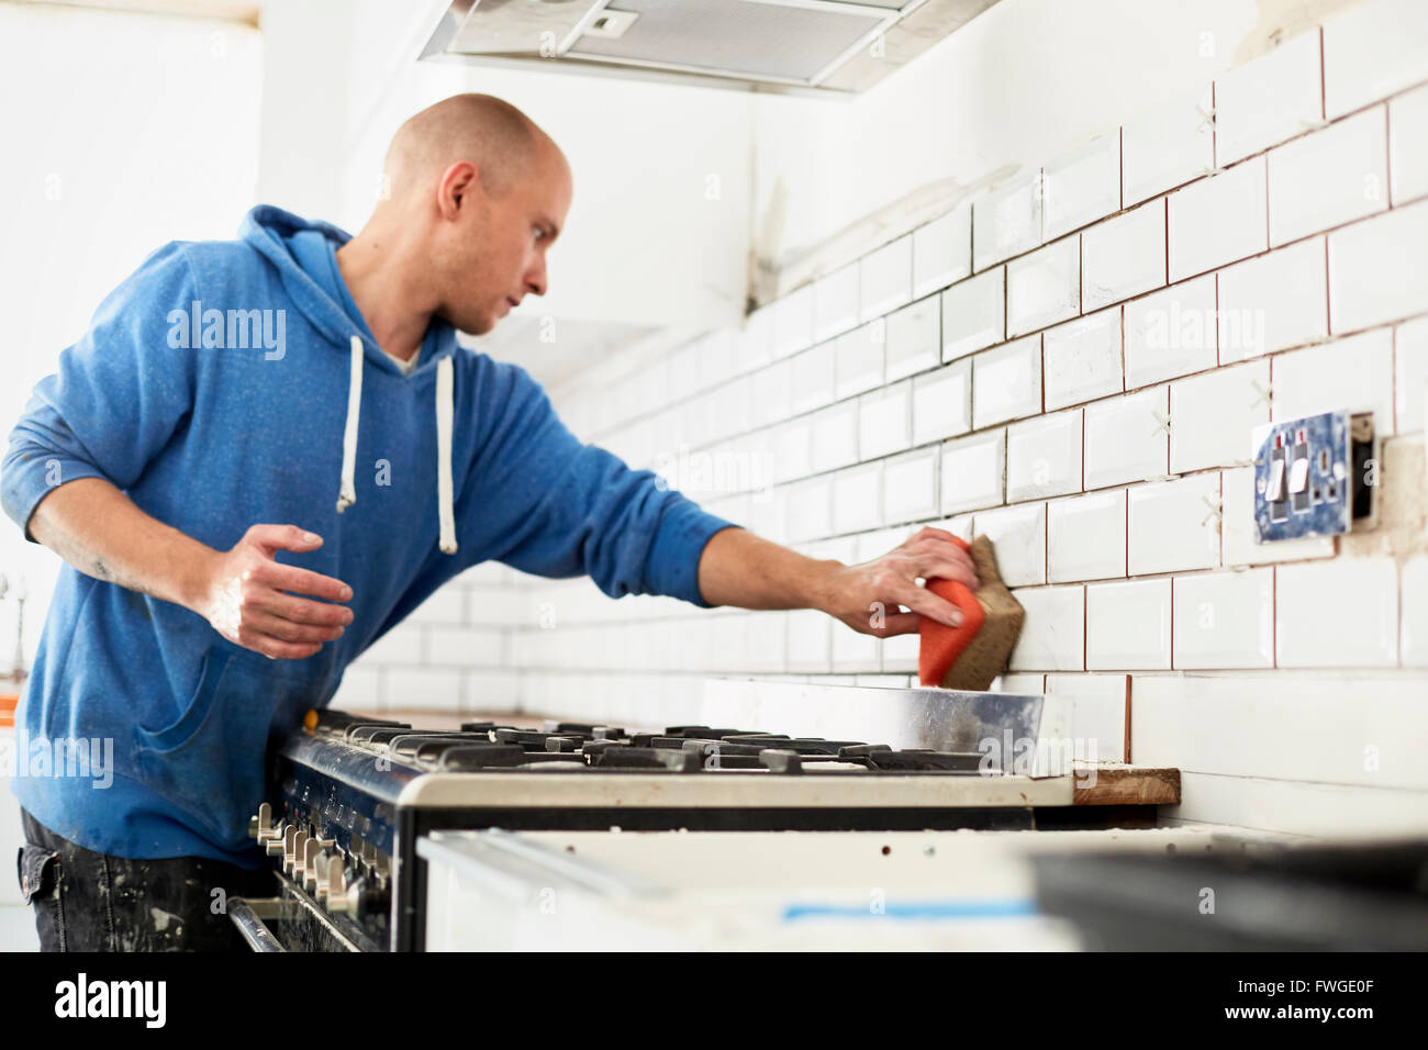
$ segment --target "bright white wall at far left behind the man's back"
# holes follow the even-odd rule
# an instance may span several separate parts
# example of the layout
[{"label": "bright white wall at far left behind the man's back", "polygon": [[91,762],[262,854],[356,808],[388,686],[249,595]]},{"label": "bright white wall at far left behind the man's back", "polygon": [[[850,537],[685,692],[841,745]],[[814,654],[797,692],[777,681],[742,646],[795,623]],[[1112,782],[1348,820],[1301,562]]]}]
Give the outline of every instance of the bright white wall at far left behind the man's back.
[{"label": "bright white wall at far left behind the man's back", "polygon": [[[6,434],[144,256],[237,234],[257,181],[261,59],[257,30],[233,23],[0,3]],[[0,530],[0,573],[24,574],[31,591],[27,659],[59,564]],[[0,601],[0,673],[13,604]]]}]

